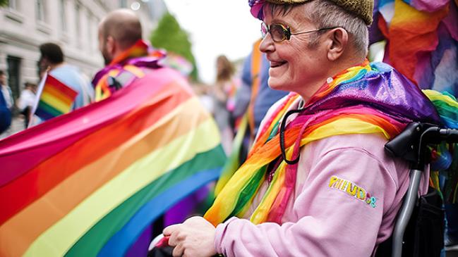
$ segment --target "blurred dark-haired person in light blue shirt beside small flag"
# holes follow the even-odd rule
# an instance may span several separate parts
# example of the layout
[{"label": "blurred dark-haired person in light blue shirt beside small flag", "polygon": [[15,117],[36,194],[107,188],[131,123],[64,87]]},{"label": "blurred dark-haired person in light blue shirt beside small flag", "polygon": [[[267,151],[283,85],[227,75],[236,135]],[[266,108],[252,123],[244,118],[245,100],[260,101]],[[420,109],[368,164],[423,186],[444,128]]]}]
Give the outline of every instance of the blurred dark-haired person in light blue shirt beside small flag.
[{"label": "blurred dark-haired person in light blue shirt beside small flag", "polygon": [[40,70],[49,69],[50,75],[78,92],[72,110],[87,106],[94,101],[94,89],[88,77],[85,77],[76,66],[65,62],[64,53],[59,45],[54,43],[41,44],[40,54]]}]

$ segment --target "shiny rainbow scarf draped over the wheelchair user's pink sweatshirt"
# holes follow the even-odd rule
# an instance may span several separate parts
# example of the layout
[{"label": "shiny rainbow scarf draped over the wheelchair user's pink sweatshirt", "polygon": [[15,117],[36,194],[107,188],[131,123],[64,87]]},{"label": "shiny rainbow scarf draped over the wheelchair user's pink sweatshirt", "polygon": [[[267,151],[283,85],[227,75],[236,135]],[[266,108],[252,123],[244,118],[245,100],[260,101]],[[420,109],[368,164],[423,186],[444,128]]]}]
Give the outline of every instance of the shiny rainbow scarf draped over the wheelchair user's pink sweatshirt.
[{"label": "shiny rainbow scarf draped over the wheelchair user's pink sweatshirt", "polygon": [[[260,185],[270,185],[251,222],[280,223],[296,184],[297,163],[287,164],[279,147],[280,120],[300,96],[286,96],[265,120],[248,159],[217,195],[205,218],[217,225],[231,216],[243,216]],[[440,123],[434,106],[414,84],[384,63],[367,61],[333,77],[301,109],[284,131],[288,160],[299,158],[301,146],[337,134],[382,133],[390,139],[412,120]],[[279,161],[272,163],[277,158]],[[273,170],[267,170],[269,164]],[[270,165],[272,166],[272,165]],[[229,176],[229,175],[226,175]],[[222,177],[222,180],[228,180]]]}]

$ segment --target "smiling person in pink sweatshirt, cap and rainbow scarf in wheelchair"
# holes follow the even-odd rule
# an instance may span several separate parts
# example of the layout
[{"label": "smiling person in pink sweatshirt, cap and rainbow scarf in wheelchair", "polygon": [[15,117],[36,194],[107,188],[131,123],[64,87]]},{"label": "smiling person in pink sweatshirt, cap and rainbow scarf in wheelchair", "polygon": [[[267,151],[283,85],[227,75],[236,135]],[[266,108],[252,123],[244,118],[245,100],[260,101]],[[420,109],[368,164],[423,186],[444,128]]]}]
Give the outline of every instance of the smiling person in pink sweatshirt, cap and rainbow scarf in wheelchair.
[{"label": "smiling person in pink sweatshirt, cap and rainbow scarf in wheelchair", "polygon": [[249,4],[269,86],[291,93],[205,216],[164,229],[173,256],[374,256],[409,187],[408,163],[384,145],[438,113],[397,70],[366,60],[372,0]]}]

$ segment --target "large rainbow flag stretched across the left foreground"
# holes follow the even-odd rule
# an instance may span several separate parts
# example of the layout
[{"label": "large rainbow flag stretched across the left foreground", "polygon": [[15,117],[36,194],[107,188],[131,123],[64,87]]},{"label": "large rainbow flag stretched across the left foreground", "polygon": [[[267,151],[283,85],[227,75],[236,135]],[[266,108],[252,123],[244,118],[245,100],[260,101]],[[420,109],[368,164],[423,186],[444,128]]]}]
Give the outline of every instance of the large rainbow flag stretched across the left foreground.
[{"label": "large rainbow flag stretched across the left foreground", "polygon": [[0,141],[0,256],[123,256],[174,203],[217,179],[217,125],[179,73]]}]

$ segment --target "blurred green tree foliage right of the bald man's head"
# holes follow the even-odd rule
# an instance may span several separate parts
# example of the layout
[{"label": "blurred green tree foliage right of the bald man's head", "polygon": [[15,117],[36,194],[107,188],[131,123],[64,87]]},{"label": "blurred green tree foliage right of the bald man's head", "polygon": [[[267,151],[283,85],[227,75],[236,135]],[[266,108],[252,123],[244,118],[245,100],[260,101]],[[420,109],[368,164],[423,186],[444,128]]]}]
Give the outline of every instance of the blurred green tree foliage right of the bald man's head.
[{"label": "blurred green tree foliage right of the bald man's head", "polygon": [[188,33],[180,27],[176,18],[170,13],[165,13],[152,32],[150,41],[155,48],[179,54],[191,62],[193,64],[191,79],[197,81],[198,70],[188,37]]}]

